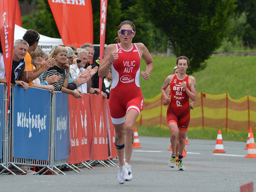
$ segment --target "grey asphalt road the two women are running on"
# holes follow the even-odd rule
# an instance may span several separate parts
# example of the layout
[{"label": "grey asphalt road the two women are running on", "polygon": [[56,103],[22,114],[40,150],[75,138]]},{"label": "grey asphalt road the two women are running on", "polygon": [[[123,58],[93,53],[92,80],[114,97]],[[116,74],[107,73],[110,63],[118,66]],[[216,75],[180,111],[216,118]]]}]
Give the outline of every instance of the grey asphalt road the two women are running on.
[{"label": "grey asphalt road the two women are running on", "polygon": [[[256,158],[245,158],[246,142],[223,141],[225,154],[214,154],[216,140],[189,139],[184,171],[168,167],[169,138],[140,137],[141,148],[132,155],[133,180],[117,181],[117,166],[67,175],[0,175],[0,191],[240,191],[253,181],[256,191]],[[118,160],[113,159],[118,165]]]}]

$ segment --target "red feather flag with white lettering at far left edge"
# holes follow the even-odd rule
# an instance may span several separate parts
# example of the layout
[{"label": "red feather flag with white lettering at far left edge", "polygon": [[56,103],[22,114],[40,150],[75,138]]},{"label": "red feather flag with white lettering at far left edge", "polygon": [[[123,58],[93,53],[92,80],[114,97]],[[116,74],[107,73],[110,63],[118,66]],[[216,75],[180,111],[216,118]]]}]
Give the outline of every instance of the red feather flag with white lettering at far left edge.
[{"label": "red feather flag with white lettering at far left edge", "polygon": [[7,106],[9,106],[9,92],[12,73],[13,41],[15,28],[16,0],[0,2],[0,36],[5,62],[5,74],[7,81]]}]

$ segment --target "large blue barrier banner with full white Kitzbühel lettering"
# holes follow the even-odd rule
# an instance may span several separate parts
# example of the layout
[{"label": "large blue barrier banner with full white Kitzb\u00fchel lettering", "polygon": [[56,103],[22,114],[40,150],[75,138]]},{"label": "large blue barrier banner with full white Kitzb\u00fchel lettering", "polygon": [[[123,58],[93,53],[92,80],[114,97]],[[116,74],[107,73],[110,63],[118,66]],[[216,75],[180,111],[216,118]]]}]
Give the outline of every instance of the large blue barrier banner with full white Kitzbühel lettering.
[{"label": "large blue barrier banner with full white Kitzb\u00fchel lettering", "polygon": [[13,157],[49,160],[51,92],[14,88]]}]

